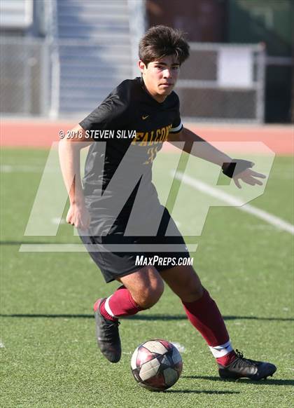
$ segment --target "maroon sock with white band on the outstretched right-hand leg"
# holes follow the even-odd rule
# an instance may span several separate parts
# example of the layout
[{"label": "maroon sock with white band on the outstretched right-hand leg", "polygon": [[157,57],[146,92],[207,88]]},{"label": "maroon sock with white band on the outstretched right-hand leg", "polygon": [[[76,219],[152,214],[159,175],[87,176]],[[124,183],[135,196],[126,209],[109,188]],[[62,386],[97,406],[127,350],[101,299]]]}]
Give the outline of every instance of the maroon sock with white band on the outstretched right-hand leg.
[{"label": "maroon sock with white band on the outstretched right-hand leg", "polygon": [[235,351],[230,344],[230,338],[223,321],[223,316],[204,289],[203,296],[193,302],[183,301],[188,319],[207,341],[211,353],[221,365],[228,365],[235,359]]}]

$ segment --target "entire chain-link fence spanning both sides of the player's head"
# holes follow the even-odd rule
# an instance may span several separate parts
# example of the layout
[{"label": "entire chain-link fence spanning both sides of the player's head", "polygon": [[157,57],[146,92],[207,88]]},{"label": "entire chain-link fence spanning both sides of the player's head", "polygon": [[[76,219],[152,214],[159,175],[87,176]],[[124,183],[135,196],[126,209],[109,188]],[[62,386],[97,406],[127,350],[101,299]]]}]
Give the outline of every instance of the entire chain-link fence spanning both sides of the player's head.
[{"label": "entire chain-link fence spanning both sides of the player's head", "polygon": [[[101,53],[97,44],[83,41],[87,66],[80,50],[73,55],[77,46],[73,47],[72,41],[50,44],[44,40],[3,37],[0,44],[2,114],[52,116],[53,112],[55,117],[64,116],[64,112],[85,114],[118,85],[116,80],[132,76],[129,49],[117,50],[116,44],[110,44]],[[181,67],[181,79],[176,86],[181,116],[190,121],[262,123],[263,47],[211,43],[191,43],[190,47],[190,58]],[[66,57],[60,55],[64,49]],[[120,54],[122,62],[118,64]],[[78,95],[69,97],[73,91]]]}]

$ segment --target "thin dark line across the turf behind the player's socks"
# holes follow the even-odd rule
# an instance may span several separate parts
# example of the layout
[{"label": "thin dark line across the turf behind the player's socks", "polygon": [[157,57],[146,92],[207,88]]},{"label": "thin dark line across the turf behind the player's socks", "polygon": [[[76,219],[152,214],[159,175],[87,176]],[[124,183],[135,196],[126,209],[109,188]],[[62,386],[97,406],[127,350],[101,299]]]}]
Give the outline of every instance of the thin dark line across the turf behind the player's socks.
[{"label": "thin dark line across the turf behind the player's socks", "polygon": [[[92,314],[45,314],[45,313],[13,313],[13,314],[0,314],[1,318],[51,318],[51,319],[92,319],[94,315]],[[265,320],[274,322],[293,322],[294,318],[262,318],[257,316],[235,316],[228,315],[223,316],[224,320]],[[121,320],[187,320],[186,315],[144,315],[143,313],[139,315],[134,315],[126,318],[121,318]],[[188,320],[187,320],[188,321]]]}]

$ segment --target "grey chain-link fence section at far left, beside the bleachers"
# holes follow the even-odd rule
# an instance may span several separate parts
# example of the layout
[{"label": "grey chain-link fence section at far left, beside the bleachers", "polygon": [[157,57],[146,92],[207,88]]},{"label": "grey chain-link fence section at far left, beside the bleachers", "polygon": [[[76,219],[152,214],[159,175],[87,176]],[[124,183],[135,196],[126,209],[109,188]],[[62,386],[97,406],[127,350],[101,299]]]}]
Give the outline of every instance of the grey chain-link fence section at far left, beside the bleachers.
[{"label": "grey chain-link fence section at far left, beside the bleachers", "polygon": [[46,41],[0,39],[1,114],[44,116],[50,105],[50,47]]}]

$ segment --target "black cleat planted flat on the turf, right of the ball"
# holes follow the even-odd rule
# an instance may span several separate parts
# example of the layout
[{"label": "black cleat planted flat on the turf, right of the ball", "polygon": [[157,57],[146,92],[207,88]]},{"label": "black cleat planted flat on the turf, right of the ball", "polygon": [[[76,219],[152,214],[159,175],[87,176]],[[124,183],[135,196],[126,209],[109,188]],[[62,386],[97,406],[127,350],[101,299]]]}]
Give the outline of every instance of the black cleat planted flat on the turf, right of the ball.
[{"label": "black cleat planted flat on the turf, right of the ball", "polygon": [[237,349],[236,354],[237,357],[230,365],[223,367],[223,365],[218,364],[218,373],[221,379],[247,378],[258,381],[266,379],[267,376],[272,376],[276,372],[276,366],[270,362],[248,360]]}]

